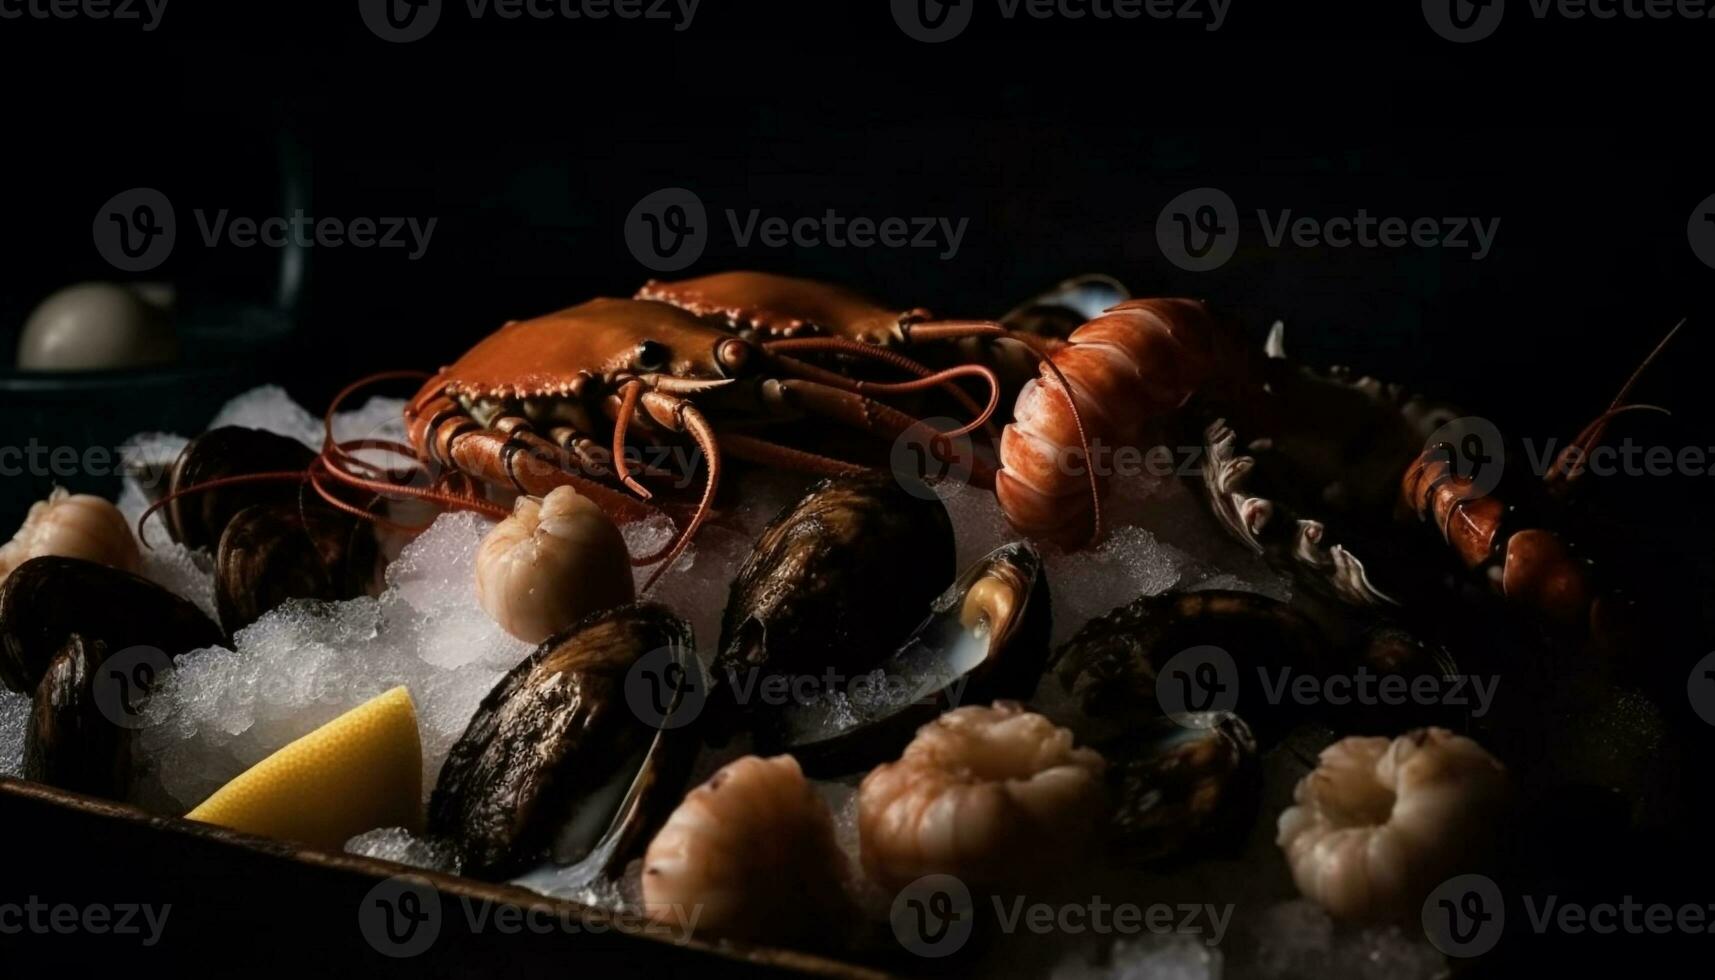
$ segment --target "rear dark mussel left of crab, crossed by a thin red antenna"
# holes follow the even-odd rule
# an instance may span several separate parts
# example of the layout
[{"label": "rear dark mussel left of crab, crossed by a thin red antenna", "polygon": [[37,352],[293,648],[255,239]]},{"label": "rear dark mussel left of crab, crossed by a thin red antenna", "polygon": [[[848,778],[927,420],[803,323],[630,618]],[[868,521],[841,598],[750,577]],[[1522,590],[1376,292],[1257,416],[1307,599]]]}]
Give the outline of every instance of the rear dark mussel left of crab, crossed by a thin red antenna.
[{"label": "rear dark mussel left of crab, crossed by a thin red antenna", "polygon": [[[166,489],[180,493],[223,477],[300,472],[314,458],[316,453],[297,439],[264,429],[221,426],[190,439],[178,453]],[[297,482],[264,481],[192,493],[166,505],[166,530],[187,547],[213,549],[235,513],[259,503],[295,503],[300,491]]]}]

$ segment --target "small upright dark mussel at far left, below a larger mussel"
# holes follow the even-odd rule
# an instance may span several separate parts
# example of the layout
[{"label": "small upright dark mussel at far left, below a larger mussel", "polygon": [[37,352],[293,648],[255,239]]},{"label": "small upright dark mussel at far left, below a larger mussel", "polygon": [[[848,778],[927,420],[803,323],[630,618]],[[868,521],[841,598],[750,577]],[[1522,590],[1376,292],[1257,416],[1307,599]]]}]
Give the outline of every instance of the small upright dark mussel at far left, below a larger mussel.
[{"label": "small upright dark mussel at far left, below a larger mussel", "polygon": [[48,664],[24,729],[26,779],[106,800],[127,796],[130,728],[103,714],[96,702],[98,671],[106,659],[106,644],[74,635]]}]

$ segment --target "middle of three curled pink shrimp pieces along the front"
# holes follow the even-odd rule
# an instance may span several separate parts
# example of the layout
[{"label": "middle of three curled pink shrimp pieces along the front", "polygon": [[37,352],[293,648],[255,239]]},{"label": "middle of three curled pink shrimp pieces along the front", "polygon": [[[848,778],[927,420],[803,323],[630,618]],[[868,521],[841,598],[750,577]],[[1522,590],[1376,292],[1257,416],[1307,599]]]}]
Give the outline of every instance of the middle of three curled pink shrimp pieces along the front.
[{"label": "middle of three curled pink shrimp pieces along the front", "polygon": [[930,874],[1039,880],[1099,843],[1104,769],[1070,731],[1015,702],[948,711],[858,789],[864,868],[895,889]]}]

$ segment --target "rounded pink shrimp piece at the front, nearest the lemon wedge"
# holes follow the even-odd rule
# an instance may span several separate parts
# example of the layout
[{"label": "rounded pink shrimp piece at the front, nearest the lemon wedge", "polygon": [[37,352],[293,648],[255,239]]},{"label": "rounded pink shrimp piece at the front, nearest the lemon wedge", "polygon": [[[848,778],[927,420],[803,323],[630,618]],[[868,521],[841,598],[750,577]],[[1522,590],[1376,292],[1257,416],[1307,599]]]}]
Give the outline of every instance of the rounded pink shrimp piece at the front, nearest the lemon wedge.
[{"label": "rounded pink shrimp piece at the front, nearest the lemon wedge", "polygon": [[650,918],[736,939],[815,944],[852,908],[833,814],[791,755],[746,755],[691,789],[643,855]]}]

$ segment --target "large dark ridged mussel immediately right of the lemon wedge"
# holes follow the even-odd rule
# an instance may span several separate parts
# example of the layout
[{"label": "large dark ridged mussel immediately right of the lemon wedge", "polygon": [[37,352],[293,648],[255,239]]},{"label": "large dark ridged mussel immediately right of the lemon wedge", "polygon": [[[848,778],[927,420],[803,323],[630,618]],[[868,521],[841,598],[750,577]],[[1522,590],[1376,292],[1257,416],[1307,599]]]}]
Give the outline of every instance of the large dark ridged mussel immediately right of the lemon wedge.
[{"label": "large dark ridged mussel immediately right of the lemon wedge", "polygon": [[688,662],[691,626],[647,602],[595,613],[482,700],[429,800],[429,829],[458,843],[466,874],[545,860],[617,872],[679,802],[698,738],[672,712],[691,702],[677,688],[665,721],[650,723],[626,697],[650,654]]}]

